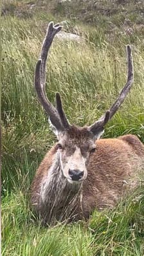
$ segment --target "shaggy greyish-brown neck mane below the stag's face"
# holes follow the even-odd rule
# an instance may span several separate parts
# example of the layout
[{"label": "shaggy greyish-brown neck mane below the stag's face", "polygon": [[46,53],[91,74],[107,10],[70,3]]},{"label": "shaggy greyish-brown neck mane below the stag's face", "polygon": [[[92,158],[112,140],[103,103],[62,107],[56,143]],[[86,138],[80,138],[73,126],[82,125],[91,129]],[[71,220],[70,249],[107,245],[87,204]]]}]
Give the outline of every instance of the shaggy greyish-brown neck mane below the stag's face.
[{"label": "shaggy greyish-brown neck mane below the stag's face", "polygon": [[56,152],[55,160],[41,185],[42,219],[47,223],[53,223],[55,220],[76,217],[74,215],[81,188],[82,185],[70,184],[63,176],[60,153]]}]

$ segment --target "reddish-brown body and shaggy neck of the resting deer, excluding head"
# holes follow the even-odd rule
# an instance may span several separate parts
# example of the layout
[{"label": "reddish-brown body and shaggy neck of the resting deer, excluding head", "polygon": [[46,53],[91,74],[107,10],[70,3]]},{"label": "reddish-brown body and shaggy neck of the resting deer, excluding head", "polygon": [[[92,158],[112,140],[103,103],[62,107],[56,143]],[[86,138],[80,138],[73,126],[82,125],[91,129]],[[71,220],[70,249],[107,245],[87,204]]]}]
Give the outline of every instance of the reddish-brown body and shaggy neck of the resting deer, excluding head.
[{"label": "reddish-brown body and shaggy neck of the resting deer, excluding head", "polygon": [[128,134],[100,139],[89,159],[87,179],[73,186],[62,174],[55,145],[37,170],[31,202],[46,223],[87,218],[95,209],[112,208],[125,192],[136,187],[143,161],[144,145],[138,137]]}]

